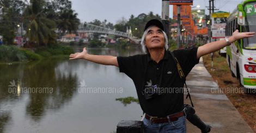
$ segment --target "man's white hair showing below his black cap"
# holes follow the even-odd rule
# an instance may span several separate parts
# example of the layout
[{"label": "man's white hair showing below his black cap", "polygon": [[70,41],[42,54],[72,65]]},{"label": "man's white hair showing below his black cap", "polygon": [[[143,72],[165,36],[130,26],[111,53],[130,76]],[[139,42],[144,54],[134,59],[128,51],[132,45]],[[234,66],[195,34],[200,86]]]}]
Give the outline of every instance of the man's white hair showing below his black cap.
[{"label": "man's white hair showing below his black cap", "polygon": [[[154,25],[153,25],[153,26],[154,26]],[[147,53],[147,54],[149,53],[149,51],[148,51],[148,49],[147,49],[146,46],[145,46],[145,37],[146,37],[148,31],[149,31],[153,26],[149,26],[149,28],[144,31],[144,33],[143,33],[143,35],[142,35],[142,38],[141,38],[142,51],[143,51],[144,53]],[[161,31],[163,32],[163,36],[164,36],[164,48],[165,48],[166,50],[168,50],[168,38],[167,38],[166,32],[164,32],[162,29],[161,29]]]}]

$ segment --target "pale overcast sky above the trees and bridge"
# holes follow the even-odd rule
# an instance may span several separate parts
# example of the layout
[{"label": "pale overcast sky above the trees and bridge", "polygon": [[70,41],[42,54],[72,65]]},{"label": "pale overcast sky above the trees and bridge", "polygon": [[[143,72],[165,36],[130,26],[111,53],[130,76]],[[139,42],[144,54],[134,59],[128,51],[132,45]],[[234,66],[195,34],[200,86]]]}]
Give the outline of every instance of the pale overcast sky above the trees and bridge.
[{"label": "pale overcast sky above the trees and bridge", "polygon": [[[137,17],[139,14],[148,14],[153,11],[154,14],[162,14],[161,0],[70,0],[72,9],[75,10],[81,22],[91,22],[99,19],[113,24],[117,23],[122,17],[129,19],[131,15]],[[215,8],[221,11],[232,12],[236,5],[242,0],[215,0]],[[199,9],[205,9],[206,14],[209,10],[205,6],[209,6],[209,0],[194,0],[193,6],[200,5]],[[173,17],[173,5],[169,6],[170,18]],[[194,8],[197,9],[197,8]]]}]

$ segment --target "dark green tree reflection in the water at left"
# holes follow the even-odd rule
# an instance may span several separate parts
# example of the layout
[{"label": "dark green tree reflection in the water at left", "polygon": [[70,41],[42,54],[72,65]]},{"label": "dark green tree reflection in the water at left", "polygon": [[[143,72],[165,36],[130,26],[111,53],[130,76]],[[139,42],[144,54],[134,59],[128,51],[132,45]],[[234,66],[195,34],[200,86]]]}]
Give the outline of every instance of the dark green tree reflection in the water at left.
[{"label": "dark green tree reflection in the water at left", "polygon": [[[64,61],[48,59],[1,67],[1,99],[15,101],[28,97],[26,115],[39,121],[46,109],[60,109],[76,93],[77,77],[71,70],[60,70]],[[13,68],[13,69],[10,69]]]}]

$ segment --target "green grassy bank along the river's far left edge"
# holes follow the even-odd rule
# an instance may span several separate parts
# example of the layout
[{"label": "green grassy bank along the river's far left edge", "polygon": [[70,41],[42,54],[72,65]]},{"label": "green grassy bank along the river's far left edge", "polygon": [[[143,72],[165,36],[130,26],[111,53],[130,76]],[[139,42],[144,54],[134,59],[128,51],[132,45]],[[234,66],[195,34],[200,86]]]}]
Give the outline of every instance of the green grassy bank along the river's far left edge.
[{"label": "green grassy bank along the river's far left edge", "polygon": [[41,47],[32,51],[30,49],[19,48],[14,45],[0,45],[0,62],[27,62],[39,61],[44,58],[56,56],[68,56],[73,53],[70,46],[52,45],[48,47]]}]

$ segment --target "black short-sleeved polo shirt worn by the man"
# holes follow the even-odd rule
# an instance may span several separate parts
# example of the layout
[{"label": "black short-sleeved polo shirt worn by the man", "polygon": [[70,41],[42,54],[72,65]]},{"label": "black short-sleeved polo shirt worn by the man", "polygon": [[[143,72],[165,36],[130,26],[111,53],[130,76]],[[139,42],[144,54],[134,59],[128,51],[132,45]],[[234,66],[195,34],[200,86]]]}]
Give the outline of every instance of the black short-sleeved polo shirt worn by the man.
[{"label": "black short-sleeved polo shirt worn by the man", "polygon": [[[195,47],[173,51],[185,76],[199,62],[197,49]],[[184,81],[180,78],[169,51],[164,51],[163,59],[159,63],[153,61],[149,54],[117,57],[117,60],[120,72],[124,72],[135,84],[139,104],[145,113],[151,116],[165,117],[183,110]],[[142,90],[156,84],[160,88],[165,88],[165,91],[161,95],[145,99]]]}]

